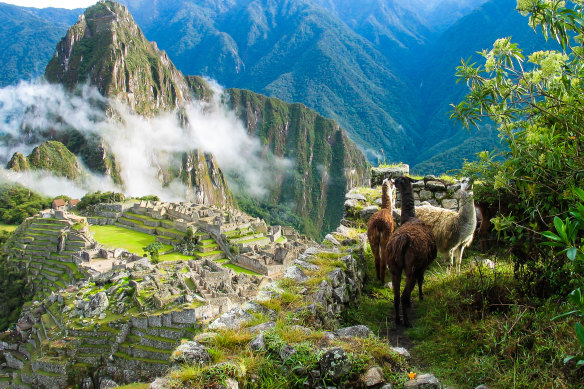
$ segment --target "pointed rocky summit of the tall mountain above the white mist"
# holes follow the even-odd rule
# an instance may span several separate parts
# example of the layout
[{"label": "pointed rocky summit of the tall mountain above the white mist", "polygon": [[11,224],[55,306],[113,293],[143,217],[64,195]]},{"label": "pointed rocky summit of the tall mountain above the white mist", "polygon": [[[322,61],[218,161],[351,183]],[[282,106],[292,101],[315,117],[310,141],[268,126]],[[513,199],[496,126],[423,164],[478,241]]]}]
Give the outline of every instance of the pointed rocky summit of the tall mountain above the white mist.
[{"label": "pointed rocky summit of the tall mountain above the white mist", "polygon": [[45,77],[69,89],[89,82],[148,116],[189,99],[185,79],[166,53],[146,40],[125,6],[109,0],[88,8],[69,29]]}]

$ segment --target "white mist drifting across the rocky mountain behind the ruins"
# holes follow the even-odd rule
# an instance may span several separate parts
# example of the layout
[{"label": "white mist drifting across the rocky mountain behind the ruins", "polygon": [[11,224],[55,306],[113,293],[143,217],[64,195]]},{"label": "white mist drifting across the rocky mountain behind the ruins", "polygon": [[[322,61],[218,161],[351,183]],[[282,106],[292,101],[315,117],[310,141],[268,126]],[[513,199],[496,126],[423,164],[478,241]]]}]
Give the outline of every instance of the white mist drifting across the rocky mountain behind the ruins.
[{"label": "white mist drifting across the rocky mountain behind the ruins", "polygon": [[[173,112],[155,118],[134,114],[127,105],[101,96],[88,85],[75,93],[40,81],[2,88],[0,163],[5,166],[15,152],[26,156],[51,135],[75,129],[104,140],[121,166],[124,185],[116,186],[110,177],[88,169],[76,182],[49,172],[3,170],[1,177],[50,196],[82,197],[97,190],[115,190],[131,197],[154,194],[165,201],[181,201],[188,200],[186,186],[178,180],[163,185],[161,171],[179,166],[182,153],[199,150],[213,154],[226,175],[238,177],[237,185],[231,185],[232,191],[263,198],[276,177],[286,174],[293,163],[274,156],[262,148],[259,139],[248,135],[235,113],[220,102],[221,88],[212,85],[215,100],[186,106],[186,125],[181,125]],[[115,113],[106,115],[106,107]]]}]

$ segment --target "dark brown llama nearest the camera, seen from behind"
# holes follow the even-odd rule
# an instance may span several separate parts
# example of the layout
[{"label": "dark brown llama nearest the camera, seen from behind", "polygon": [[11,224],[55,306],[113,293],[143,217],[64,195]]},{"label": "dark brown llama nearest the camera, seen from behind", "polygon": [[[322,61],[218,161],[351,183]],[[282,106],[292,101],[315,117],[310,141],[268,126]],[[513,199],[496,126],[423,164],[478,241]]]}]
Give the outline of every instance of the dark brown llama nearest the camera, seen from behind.
[{"label": "dark brown llama nearest the camera, seen from behind", "polygon": [[[382,249],[380,275],[381,282],[385,283],[385,268],[389,268],[393,286],[395,323],[400,324],[399,306],[401,300],[406,327],[410,327],[407,309],[410,307],[412,290],[417,283],[420,300],[424,299],[422,293],[424,272],[438,253],[432,228],[416,218],[412,181],[409,177],[399,177],[395,180],[395,186],[400,192],[402,202],[402,225],[387,238],[387,244]],[[406,285],[400,299],[402,271],[406,274]]]}]

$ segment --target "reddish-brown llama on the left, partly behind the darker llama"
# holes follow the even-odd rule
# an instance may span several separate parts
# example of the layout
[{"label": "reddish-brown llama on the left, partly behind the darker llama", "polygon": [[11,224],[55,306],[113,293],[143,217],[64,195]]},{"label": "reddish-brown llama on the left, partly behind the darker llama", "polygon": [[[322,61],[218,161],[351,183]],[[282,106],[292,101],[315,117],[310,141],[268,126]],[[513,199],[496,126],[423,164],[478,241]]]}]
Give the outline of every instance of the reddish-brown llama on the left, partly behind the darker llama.
[{"label": "reddish-brown llama on the left, partly behind the darker llama", "polygon": [[[367,237],[369,238],[369,245],[371,246],[371,252],[373,253],[373,258],[375,258],[375,273],[377,274],[377,279],[380,280],[380,266],[381,266],[381,253],[380,250],[387,243],[387,238],[395,230],[395,222],[393,221],[392,208],[393,208],[393,192],[394,192],[393,182],[389,179],[383,180],[383,185],[381,186],[381,209],[371,216],[369,222],[367,223]],[[388,231],[388,234],[383,234]],[[386,241],[381,240],[384,236]]]}]

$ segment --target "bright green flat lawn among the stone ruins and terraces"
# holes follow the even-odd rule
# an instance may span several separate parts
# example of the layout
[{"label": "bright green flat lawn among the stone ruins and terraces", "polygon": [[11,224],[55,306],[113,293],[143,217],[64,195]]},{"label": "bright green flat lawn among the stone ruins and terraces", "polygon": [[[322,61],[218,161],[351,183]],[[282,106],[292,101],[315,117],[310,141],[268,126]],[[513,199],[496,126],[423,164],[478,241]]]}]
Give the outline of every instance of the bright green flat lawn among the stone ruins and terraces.
[{"label": "bright green flat lawn among the stone ruins and terraces", "polygon": [[[154,235],[145,234],[119,226],[90,226],[95,240],[110,248],[123,248],[131,253],[144,254],[143,247],[155,242]],[[162,252],[172,250],[172,246],[163,245]],[[160,256],[162,260],[162,255]]]}]

